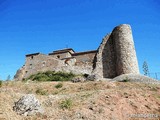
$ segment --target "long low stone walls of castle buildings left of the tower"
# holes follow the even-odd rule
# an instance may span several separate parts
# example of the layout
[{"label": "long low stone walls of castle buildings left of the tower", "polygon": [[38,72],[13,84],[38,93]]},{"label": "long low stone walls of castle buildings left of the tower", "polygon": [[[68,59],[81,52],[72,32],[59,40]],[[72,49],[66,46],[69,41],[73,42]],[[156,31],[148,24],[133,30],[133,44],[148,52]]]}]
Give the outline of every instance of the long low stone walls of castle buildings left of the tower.
[{"label": "long low stone walls of castle buildings left of the tower", "polygon": [[75,74],[91,74],[94,56],[95,53],[86,53],[59,59],[52,55],[29,55],[26,56],[25,65],[17,71],[15,79],[21,80],[32,74],[44,71],[65,71]]}]

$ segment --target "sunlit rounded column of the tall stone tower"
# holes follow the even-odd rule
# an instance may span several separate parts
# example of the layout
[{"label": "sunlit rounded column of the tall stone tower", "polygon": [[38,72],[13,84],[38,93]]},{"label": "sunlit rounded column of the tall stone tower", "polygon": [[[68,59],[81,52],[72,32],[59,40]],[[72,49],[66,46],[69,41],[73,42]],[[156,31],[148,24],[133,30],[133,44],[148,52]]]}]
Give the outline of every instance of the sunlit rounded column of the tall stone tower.
[{"label": "sunlit rounded column of the tall stone tower", "polygon": [[112,32],[115,42],[116,74],[138,74],[138,62],[133,42],[130,25],[123,24],[116,27]]}]

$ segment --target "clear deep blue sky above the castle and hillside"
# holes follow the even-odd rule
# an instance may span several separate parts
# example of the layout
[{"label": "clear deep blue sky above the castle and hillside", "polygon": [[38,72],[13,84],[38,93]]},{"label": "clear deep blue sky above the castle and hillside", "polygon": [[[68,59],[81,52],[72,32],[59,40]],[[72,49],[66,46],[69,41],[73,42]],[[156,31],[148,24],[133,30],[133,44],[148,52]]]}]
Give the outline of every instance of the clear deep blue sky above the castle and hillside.
[{"label": "clear deep blue sky above the castle and hillside", "polygon": [[66,46],[97,49],[119,24],[130,24],[142,72],[160,72],[159,0],[0,0],[0,79],[25,63],[25,54]]}]

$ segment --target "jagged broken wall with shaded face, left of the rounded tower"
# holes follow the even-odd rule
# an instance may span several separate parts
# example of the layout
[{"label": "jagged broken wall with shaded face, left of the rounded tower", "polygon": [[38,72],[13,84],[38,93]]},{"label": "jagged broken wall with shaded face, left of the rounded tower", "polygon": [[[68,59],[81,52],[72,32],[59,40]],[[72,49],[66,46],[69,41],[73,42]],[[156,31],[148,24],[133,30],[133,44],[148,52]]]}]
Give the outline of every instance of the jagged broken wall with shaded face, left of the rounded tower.
[{"label": "jagged broken wall with shaded face, left of the rounded tower", "polygon": [[106,35],[95,56],[93,73],[96,78],[113,78],[116,76],[115,51],[111,34]]}]

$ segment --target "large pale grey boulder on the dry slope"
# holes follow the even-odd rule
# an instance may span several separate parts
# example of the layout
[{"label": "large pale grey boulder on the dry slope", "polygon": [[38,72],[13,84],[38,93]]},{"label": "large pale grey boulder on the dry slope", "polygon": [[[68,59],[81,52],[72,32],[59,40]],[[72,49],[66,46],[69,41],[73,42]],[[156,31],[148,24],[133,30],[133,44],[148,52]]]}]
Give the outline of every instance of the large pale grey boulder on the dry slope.
[{"label": "large pale grey boulder on the dry slope", "polygon": [[13,110],[17,112],[17,114],[24,116],[35,115],[36,113],[43,112],[40,102],[33,94],[27,94],[21,97],[17,102],[15,102]]}]

